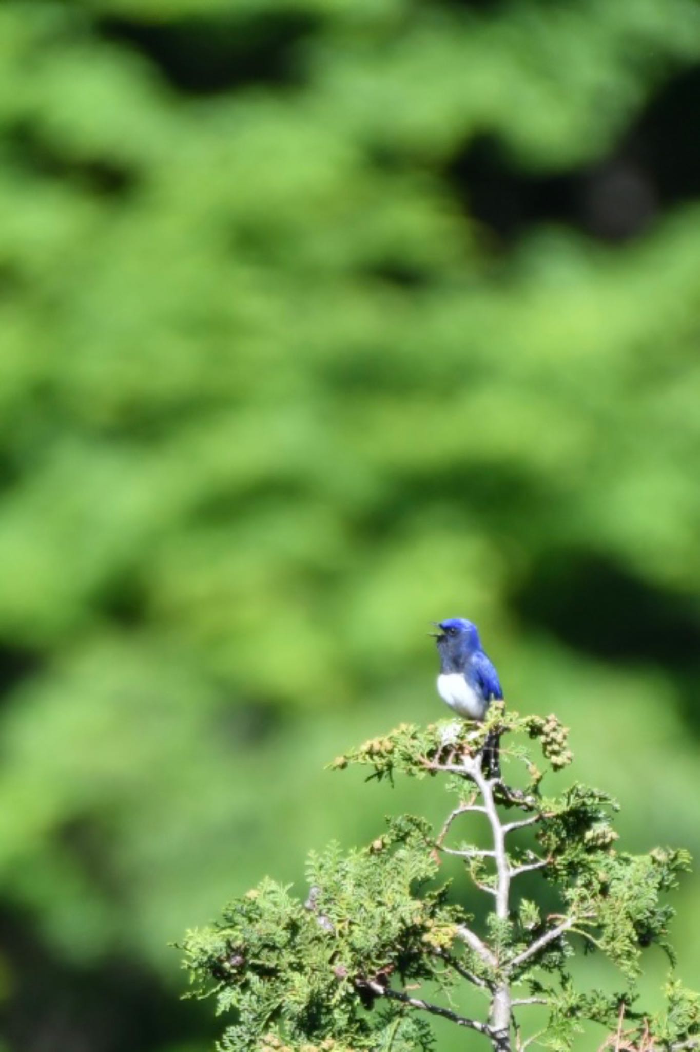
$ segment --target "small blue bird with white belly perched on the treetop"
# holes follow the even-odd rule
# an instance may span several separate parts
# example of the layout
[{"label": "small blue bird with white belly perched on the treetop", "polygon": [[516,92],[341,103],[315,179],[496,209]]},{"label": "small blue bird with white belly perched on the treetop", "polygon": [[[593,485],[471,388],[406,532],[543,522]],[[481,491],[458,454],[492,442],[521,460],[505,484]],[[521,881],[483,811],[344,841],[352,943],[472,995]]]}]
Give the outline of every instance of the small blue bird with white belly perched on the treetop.
[{"label": "small blue bird with white belly perched on the treetop", "polygon": [[[490,703],[502,699],[503,692],[491,659],[481,649],[476,625],[465,618],[433,624],[439,628],[431,632],[440,655],[437,693],[466,720],[483,720]],[[497,734],[489,734],[483,761],[488,775],[500,777]]]}]

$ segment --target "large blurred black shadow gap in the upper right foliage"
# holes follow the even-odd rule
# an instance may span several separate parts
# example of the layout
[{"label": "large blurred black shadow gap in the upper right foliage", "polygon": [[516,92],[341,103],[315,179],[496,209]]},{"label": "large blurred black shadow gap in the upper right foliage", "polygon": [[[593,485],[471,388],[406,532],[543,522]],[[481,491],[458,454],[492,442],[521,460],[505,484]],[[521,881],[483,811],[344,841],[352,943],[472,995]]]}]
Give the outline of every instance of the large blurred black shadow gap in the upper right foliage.
[{"label": "large blurred black shadow gap in the upper right foliage", "polygon": [[596,164],[541,174],[519,165],[496,137],[481,136],[447,175],[469,215],[502,247],[540,223],[623,243],[659,211],[700,195],[700,68],[670,81]]}]

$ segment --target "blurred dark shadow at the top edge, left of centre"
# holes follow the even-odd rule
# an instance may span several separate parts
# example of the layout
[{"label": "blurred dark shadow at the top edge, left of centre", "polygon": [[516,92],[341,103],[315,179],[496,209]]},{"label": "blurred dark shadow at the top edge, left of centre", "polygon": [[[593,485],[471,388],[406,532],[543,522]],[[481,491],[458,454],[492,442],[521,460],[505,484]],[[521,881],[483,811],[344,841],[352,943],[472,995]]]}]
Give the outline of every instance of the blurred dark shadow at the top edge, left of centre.
[{"label": "blurred dark shadow at the top edge, left of centre", "polygon": [[302,12],[250,18],[182,18],[148,23],[105,18],[101,35],[156,63],[169,84],[189,95],[217,95],[247,84],[304,81],[300,45],[317,20]]}]

